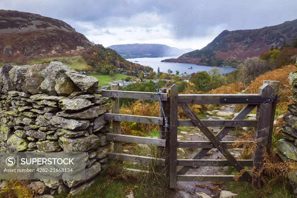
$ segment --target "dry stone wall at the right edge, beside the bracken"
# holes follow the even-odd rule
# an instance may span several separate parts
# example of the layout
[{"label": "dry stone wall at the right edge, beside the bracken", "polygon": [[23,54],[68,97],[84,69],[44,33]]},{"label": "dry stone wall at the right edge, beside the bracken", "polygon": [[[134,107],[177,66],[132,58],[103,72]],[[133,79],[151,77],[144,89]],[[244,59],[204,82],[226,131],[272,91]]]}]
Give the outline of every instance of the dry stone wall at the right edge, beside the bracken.
[{"label": "dry stone wall at the right edge, beside the bracken", "polygon": [[[289,114],[285,114],[283,119],[285,124],[282,127],[282,139],[277,141],[275,153],[282,160],[293,160],[297,162],[297,71],[289,75],[291,96],[294,104],[288,105]],[[297,173],[293,173],[290,178],[290,184],[295,194],[297,194]]]}]

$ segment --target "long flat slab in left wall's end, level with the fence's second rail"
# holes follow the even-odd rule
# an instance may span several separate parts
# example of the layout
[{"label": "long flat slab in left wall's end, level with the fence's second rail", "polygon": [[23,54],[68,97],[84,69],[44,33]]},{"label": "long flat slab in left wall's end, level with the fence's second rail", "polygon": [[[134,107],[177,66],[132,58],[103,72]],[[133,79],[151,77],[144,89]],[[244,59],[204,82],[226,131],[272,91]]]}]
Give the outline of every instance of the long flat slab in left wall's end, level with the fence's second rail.
[{"label": "long flat slab in left wall's end, level with the fence's second rail", "polygon": [[65,111],[61,111],[57,113],[57,116],[66,117],[66,118],[74,118],[74,119],[93,119],[98,117],[99,115],[104,114],[106,111],[110,110],[110,104],[93,106],[81,112],[75,113],[67,113]]}]

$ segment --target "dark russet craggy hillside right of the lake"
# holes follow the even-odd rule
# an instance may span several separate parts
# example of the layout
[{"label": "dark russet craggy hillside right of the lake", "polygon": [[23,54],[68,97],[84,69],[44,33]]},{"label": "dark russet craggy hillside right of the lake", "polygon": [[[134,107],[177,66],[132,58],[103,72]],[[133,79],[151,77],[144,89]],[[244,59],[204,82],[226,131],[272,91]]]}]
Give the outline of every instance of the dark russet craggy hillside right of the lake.
[{"label": "dark russet craggy hillside right of the lake", "polygon": [[[253,30],[224,30],[211,43],[200,50],[188,52],[176,59],[162,62],[195,63],[210,66],[234,66],[237,61],[259,56],[271,46],[281,47],[297,36],[297,19],[285,23]],[[225,60],[231,63],[225,63]]]}]

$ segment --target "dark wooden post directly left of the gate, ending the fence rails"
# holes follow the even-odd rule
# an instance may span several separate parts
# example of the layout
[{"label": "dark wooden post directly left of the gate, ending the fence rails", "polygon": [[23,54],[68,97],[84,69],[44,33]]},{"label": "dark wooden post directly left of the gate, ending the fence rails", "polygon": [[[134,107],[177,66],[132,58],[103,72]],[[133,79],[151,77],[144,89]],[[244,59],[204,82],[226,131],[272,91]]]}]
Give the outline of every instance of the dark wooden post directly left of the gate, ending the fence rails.
[{"label": "dark wooden post directly left of the gate, ending the fence rails", "polygon": [[[167,101],[162,101],[162,106],[159,104],[159,117],[163,118],[163,112],[162,112],[162,107],[164,109],[165,116],[167,117],[168,125],[170,125],[170,89],[165,89],[162,88],[162,93],[167,93]],[[159,125],[159,135],[158,137],[160,139],[166,140],[166,146],[165,147],[159,147],[158,149],[158,158],[165,159],[165,172],[166,172],[166,177],[169,178],[169,132],[170,128],[165,128],[165,120],[163,119],[163,124]],[[169,183],[168,183],[169,184]]]}]

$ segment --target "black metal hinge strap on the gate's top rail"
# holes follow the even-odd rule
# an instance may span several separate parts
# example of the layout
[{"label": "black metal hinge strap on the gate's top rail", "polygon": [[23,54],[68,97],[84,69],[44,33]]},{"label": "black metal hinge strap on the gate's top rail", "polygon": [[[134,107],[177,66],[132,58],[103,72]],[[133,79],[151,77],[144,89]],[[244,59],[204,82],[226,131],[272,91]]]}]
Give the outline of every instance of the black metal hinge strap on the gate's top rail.
[{"label": "black metal hinge strap on the gate's top rail", "polygon": [[277,103],[277,96],[270,98],[220,98],[220,103]]}]

